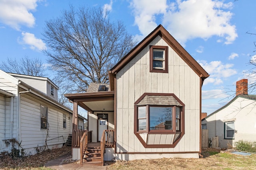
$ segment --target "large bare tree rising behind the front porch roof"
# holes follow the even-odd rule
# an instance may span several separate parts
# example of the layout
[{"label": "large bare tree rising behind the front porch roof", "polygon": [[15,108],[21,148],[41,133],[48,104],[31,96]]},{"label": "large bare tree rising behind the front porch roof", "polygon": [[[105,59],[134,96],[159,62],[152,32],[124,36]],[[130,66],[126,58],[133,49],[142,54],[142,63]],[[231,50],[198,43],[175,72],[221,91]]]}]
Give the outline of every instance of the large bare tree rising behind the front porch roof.
[{"label": "large bare tree rising behind the front porch roof", "polygon": [[108,70],[137,42],[121,21],[111,22],[102,8],[65,10],[60,18],[46,21],[44,53],[58,76],[74,84],[76,92],[90,82],[108,82]]}]

